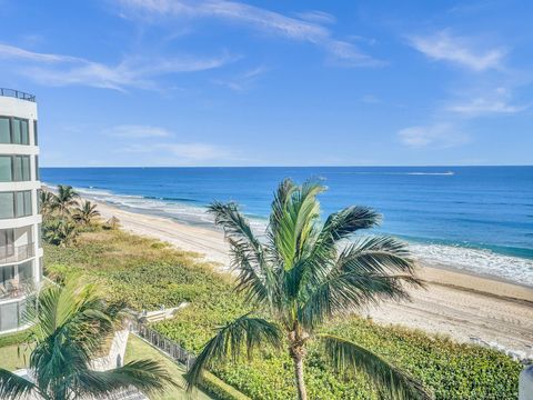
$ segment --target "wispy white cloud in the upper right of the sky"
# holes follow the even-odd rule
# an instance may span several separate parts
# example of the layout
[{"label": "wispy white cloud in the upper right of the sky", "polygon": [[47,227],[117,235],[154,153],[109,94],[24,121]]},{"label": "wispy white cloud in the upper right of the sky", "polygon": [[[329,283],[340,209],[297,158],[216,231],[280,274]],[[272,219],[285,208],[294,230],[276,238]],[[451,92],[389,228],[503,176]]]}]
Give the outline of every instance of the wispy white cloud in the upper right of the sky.
[{"label": "wispy white cloud in the upper right of the sky", "polygon": [[499,69],[505,56],[503,49],[482,49],[470,39],[452,36],[449,30],[428,37],[411,37],[410,43],[429,58],[457,63],[474,71]]}]

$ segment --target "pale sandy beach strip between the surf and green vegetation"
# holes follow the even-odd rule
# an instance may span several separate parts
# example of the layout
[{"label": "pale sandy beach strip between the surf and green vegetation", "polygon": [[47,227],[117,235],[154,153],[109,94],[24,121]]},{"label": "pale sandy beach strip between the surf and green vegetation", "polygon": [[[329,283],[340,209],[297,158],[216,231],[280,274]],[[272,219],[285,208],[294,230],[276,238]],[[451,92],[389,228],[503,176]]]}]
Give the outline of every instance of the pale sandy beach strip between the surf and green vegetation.
[{"label": "pale sandy beach strip between the surf and green vegetation", "polygon": [[[115,216],[121,228],[204,254],[228,269],[228,248],[215,229],[134,213],[99,203],[103,219]],[[533,289],[509,282],[422,266],[426,290],[413,290],[412,302],[386,302],[365,310],[380,323],[402,324],[469,342],[479,338],[533,356]],[[475,340],[475,339],[474,339]]]}]

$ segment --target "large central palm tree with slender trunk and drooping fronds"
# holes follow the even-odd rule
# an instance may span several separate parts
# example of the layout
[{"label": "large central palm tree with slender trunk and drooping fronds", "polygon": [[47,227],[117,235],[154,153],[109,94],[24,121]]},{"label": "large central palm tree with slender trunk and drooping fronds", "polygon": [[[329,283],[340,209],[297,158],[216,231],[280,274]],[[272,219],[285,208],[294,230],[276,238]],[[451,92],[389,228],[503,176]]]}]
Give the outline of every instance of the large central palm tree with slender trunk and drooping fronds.
[{"label": "large central palm tree with slender trunk and drooping fronds", "polygon": [[353,206],[320,223],[316,196],[324,190],[313,181],[296,186],[284,180],[274,194],[262,239],[237,204],[210,206],[209,212],[230,244],[235,289],[260,314],[244,314],[218,330],[189,371],[189,389],[214,362],[234,359],[243,350],[252,354],[263,343],[281,348],[286,342],[298,394],[304,400],[303,361],[308,343],[316,340],[338,372],[365,372],[389,399],[431,398],[416,380],[384,358],[355,341],[321,331],[335,316],[349,316],[383,299],[409,299],[405,284],[422,284],[403,242],[383,236],[349,240],[354,232],[379,224],[375,211]]}]

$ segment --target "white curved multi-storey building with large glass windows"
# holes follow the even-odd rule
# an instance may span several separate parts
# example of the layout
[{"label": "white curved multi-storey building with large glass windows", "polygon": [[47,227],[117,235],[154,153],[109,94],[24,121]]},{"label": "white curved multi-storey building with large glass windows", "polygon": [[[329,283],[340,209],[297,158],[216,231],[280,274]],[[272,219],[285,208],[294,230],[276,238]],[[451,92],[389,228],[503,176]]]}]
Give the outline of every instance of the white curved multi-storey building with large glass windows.
[{"label": "white curved multi-storey building with large glass windows", "polygon": [[24,328],[42,280],[37,127],[36,98],[0,88],[0,333]]}]

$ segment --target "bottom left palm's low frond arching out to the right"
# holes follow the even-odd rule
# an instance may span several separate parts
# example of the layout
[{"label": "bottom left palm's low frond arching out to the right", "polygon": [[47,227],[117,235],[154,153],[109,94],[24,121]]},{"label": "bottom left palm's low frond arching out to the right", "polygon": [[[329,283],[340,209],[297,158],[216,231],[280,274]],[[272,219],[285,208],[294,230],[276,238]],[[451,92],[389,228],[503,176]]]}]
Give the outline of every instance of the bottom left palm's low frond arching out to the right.
[{"label": "bottom left palm's low frond arching out to the right", "polygon": [[82,371],[76,376],[72,389],[86,394],[110,396],[130,387],[144,393],[157,393],[170,386],[179,387],[179,383],[160,362],[135,360],[107,371]]}]

